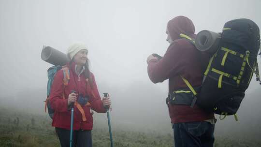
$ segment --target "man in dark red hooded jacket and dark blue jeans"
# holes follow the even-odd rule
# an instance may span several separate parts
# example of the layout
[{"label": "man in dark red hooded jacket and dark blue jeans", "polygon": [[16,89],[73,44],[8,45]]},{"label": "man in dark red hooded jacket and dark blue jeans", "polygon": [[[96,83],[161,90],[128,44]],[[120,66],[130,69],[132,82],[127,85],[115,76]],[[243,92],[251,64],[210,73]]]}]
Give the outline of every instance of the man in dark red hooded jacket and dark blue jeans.
[{"label": "man in dark red hooded jacket and dark blue jeans", "polygon": [[[195,38],[195,27],[190,19],[177,16],[167,25],[167,41],[170,43],[163,58],[150,55],[147,58],[148,75],[153,83],[169,79],[169,99],[167,104],[171,123],[174,130],[175,147],[213,147],[215,118],[213,113],[207,113],[197,104],[176,103],[182,97],[172,95],[183,91],[183,94],[192,92],[182,77],[193,88],[202,84],[203,72],[209,61],[209,55],[196,49],[191,41],[182,38],[185,34]],[[180,89],[188,89],[187,92]],[[193,95],[192,95],[193,96]],[[193,98],[192,98],[193,99]],[[173,101],[171,101],[173,100]]]}]

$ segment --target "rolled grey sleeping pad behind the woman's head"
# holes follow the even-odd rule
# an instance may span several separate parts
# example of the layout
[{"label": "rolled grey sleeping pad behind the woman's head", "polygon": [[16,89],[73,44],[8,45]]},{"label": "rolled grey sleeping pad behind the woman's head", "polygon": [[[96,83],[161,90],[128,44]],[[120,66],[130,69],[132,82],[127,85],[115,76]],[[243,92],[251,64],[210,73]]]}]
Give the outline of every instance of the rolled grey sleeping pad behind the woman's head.
[{"label": "rolled grey sleeping pad behind the woman's head", "polygon": [[69,59],[67,56],[51,46],[43,46],[41,58],[53,65],[65,65]]}]

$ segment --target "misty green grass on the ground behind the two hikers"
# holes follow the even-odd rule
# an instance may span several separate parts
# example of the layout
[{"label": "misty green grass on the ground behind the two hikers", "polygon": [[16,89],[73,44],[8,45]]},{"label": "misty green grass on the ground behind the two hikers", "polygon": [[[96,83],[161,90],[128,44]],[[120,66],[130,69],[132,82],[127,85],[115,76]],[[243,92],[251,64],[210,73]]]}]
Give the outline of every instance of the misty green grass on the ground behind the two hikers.
[{"label": "misty green grass on the ground behind the two hikers", "polygon": [[[113,125],[114,146],[173,147],[171,133],[137,131],[134,128]],[[93,147],[110,147],[105,123],[95,123],[92,137]],[[59,147],[59,141],[47,114],[36,115],[0,108],[0,147]],[[233,135],[216,136],[214,147],[261,147],[261,142],[238,139]]]}]

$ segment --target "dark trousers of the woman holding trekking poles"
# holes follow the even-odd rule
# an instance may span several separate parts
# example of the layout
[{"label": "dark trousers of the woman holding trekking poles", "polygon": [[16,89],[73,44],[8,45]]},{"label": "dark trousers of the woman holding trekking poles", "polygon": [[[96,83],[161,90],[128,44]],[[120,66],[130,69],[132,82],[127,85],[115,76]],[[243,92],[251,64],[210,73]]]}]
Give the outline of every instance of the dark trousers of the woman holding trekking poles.
[{"label": "dark trousers of the woman holding trekking poles", "polygon": [[[61,147],[70,147],[70,130],[55,128]],[[92,147],[91,131],[73,131],[73,147]]]}]

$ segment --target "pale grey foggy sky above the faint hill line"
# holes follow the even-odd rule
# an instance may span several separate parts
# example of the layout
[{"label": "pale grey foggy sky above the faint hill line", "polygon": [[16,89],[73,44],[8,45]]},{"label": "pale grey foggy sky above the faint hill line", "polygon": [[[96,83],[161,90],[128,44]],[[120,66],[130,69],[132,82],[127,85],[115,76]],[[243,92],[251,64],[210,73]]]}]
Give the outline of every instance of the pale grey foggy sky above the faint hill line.
[{"label": "pale grey foggy sky above the faint hill line", "polygon": [[45,88],[51,65],[40,59],[42,46],[65,53],[75,41],[87,44],[98,83],[150,82],[145,60],[166,51],[169,19],[188,16],[196,32],[221,31],[244,17],[261,26],[260,6],[260,0],[0,0],[0,92]]}]

